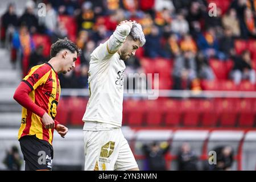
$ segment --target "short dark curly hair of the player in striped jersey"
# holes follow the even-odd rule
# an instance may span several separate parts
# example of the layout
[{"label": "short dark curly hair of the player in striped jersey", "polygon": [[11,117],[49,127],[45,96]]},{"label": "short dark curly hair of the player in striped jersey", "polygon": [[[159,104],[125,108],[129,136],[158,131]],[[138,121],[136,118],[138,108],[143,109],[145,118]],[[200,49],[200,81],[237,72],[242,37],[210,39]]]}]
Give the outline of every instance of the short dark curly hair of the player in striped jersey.
[{"label": "short dark curly hair of the player in striped jersey", "polygon": [[51,58],[55,57],[63,49],[68,49],[72,53],[77,52],[77,56],[80,55],[80,49],[71,40],[67,38],[59,39],[56,43],[51,46]]}]

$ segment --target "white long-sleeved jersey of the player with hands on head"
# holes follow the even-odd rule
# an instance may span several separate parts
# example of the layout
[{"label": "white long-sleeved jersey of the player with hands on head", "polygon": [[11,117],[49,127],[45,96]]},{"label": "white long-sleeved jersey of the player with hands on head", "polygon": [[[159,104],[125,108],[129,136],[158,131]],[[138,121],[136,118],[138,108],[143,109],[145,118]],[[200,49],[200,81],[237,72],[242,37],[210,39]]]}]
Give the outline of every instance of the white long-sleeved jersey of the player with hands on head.
[{"label": "white long-sleeved jersey of the player with hands on head", "polygon": [[125,63],[117,50],[130,31],[131,27],[127,24],[118,26],[109,40],[100,44],[90,55],[90,97],[82,121],[122,126]]}]

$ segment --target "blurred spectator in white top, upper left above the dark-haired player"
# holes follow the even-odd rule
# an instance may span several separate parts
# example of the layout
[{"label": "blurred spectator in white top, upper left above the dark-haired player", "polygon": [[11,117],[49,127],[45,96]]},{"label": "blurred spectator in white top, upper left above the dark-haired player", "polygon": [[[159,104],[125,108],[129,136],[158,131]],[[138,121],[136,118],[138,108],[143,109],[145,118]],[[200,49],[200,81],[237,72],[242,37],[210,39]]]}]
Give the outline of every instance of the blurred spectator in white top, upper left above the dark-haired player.
[{"label": "blurred spectator in white top, upper left above the dark-haired player", "polygon": [[39,16],[39,24],[46,27],[46,33],[51,36],[57,28],[57,14],[48,3],[46,5],[46,16]]}]

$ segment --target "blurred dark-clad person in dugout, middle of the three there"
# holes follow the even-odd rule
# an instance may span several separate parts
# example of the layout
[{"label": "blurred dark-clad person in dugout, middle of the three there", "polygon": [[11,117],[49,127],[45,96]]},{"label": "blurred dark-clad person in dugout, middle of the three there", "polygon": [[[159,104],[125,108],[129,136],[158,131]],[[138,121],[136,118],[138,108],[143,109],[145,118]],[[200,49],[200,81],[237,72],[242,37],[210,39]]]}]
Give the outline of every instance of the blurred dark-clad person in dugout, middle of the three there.
[{"label": "blurred dark-clad person in dugout, middle of the three there", "polygon": [[177,154],[177,163],[179,171],[197,171],[198,158],[191,150],[189,143],[183,143],[180,147],[179,154]]}]

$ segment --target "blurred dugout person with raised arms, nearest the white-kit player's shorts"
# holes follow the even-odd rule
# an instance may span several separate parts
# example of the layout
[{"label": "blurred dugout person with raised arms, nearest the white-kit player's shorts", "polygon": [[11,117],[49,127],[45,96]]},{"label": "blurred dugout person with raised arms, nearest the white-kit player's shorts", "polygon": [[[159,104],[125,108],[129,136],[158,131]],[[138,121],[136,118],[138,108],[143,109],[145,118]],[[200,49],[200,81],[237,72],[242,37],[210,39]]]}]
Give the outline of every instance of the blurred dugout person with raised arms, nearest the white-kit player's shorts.
[{"label": "blurred dugout person with raised arms, nearest the white-kit player's shorts", "polygon": [[157,143],[153,142],[150,146],[144,144],[142,147],[144,155],[148,163],[148,170],[150,171],[166,171],[166,160],[164,155],[170,150],[170,144],[167,142]]}]

